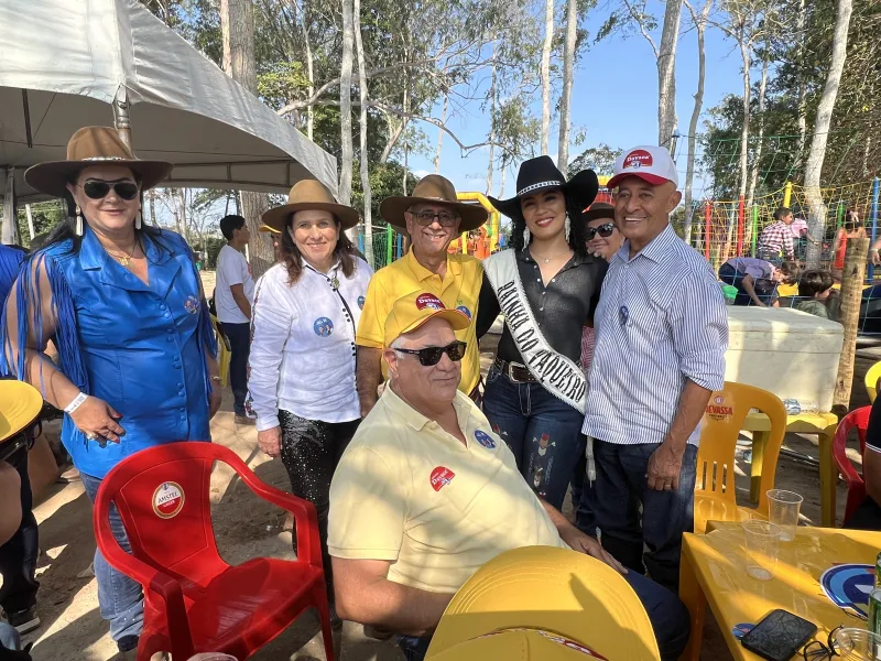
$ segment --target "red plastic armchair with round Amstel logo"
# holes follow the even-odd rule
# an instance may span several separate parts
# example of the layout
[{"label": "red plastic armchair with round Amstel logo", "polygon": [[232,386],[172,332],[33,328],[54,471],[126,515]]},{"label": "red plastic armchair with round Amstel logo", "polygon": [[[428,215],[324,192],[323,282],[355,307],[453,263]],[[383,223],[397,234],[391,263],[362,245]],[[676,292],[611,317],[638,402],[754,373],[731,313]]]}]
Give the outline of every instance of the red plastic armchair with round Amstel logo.
[{"label": "red plastic armchair with round Amstel logo", "polygon": [[[211,525],[215,460],[232,467],[254,494],[294,514],[296,561],[224,562]],[[110,531],[111,502],[122,517],[131,555]],[[174,659],[198,652],[247,659],[309,607],[318,610],[325,654],[334,661],[315,507],[260,481],[229,448],[170,443],[123,459],[101,483],[93,520],[107,562],[144,589],[138,661],[160,651]]]}]

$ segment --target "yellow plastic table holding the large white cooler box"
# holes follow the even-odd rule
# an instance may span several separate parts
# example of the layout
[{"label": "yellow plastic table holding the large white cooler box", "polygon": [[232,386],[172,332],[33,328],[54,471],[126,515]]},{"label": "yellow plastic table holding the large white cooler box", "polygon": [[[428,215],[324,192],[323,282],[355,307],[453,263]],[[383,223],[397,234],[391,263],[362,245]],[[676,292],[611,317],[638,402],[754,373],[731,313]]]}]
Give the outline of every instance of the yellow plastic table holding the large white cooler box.
[{"label": "yellow plastic table holding the large white cooler box", "polygon": [[[786,432],[816,434],[819,441],[819,498],[820,524],[835,525],[835,485],[838,469],[833,458],[833,438],[838,427],[834,413],[800,413],[786,416]],[[743,421],[743,429],[752,432],[752,469],[750,473],[750,500],[759,501],[762,479],[762,458],[771,421],[764,413],[753,411]]]}]

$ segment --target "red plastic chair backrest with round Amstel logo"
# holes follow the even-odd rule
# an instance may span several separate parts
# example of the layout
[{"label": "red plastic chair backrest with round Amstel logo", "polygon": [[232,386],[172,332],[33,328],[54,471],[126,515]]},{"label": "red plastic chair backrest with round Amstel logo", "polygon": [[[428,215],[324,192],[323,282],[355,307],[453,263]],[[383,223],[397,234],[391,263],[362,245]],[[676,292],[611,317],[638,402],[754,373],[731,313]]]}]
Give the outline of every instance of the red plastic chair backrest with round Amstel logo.
[{"label": "red plastic chair backrest with round Amstel logo", "polygon": [[211,468],[229,448],[213,443],[160,445],[127,457],[105,478],[126,525],[132,554],[172,574],[195,579],[225,566],[214,538]]}]

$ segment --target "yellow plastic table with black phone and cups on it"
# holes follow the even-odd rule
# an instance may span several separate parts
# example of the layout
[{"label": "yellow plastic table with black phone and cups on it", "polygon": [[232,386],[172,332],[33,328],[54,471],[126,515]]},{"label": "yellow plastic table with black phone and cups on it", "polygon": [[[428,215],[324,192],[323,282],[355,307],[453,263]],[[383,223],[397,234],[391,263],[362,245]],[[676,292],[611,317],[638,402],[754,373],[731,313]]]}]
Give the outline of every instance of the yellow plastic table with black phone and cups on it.
[{"label": "yellow plastic table with black phone and cups on it", "polygon": [[747,553],[740,523],[714,521],[707,534],[686,533],[682,546],[679,598],[688,608],[692,638],[682,660],[698,661],[704,616],[709,605],[735,659],[759,661],[731,632],[739,624],[757,624],[775,608],[788,610],[817,626],[816,639],[826,641],[838,625],[864,628],[856,615],[833,604],[819,585],[834,564],[873,565],[881,550],[881,532],[800,527],[792,542],[781,542],[771,581],[747,574]]}]

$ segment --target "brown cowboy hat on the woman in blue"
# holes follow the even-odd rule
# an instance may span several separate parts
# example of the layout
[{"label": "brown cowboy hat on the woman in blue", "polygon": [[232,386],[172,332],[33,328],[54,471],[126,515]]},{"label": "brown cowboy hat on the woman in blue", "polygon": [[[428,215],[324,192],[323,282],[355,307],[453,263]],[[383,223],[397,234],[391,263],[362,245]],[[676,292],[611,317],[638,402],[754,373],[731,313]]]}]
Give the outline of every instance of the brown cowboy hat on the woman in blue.
[{"label": "brown cowboy hat on the woman in blue", "polygon": [[66,161],[37,163],[28,169],[24,181],[41,193],[64,197],[67,184],[75,180],[77,173],[84,167],[94,165],[128,167],[140,177],[141,191],[155,186],[168,176],[174,167],[167,161],[135,159],[113,128],[84,127],[74,133],[67,143]]}]

